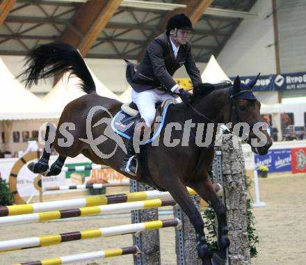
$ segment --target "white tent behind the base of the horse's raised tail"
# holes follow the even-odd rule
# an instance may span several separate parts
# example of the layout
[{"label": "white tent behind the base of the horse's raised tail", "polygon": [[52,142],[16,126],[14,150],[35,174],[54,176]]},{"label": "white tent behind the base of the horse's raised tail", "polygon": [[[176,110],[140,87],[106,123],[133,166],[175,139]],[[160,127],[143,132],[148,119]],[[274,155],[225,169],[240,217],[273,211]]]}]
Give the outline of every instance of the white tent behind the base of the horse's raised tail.
[{"label": "white tent behind the base of the horse's raised tail", "polygon": [[[119,97],[115,95],[115,93],[111,92],[104,84],[95,77],[90,71],[92,78],[95,81],[95,86],[97,90],[97,94],[102,97],[109,97],[112,99],[119,100]],[[65,74],[63,78],[56,83],[54,88],[44,97],[44,101],[52,108],[57,111],[63,111],[65,106],[72,102],[72,100],[77,99],[83,95],[86,95],[80,88],[80,79],[74,76],[70,78],[69,74]]]}]

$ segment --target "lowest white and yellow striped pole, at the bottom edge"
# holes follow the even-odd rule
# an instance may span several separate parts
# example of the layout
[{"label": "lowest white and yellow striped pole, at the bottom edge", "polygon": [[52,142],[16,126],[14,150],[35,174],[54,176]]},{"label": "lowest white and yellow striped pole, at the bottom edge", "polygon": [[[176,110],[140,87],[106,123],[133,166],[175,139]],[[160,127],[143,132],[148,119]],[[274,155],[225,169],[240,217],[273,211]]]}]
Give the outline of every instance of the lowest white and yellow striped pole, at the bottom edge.
[{"label": "lowest white and yellow striped pole, at the bottom edge", "polygon": [[61,264],[68,264],[71,262],[81,262],[89,259],[102,259],[106,257],[118,257],[122,255],[138,254],[139,252],[140,251],[137,246],[130,246],[127,248],[114,248],[110,250],[86,252],[71,256],[42,259],[36,262],[22,262],[13,265],[61,265]]}]

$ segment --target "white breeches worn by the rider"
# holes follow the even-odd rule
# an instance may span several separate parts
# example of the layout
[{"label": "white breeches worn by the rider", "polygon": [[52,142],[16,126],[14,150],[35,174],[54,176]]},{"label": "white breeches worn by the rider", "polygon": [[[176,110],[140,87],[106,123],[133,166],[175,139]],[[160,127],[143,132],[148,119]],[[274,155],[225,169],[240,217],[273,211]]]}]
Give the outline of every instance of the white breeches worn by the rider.
[{"label": "white breeches worn by the rider", "polygon": [[138,106],[141,118],[145,120],[147,127],[151,127],[155,119],[155,104],[163,102],[166,99],[175,99],[172,95],[158,89],[145,90],[136,92],[131,90],[131,100]]}]

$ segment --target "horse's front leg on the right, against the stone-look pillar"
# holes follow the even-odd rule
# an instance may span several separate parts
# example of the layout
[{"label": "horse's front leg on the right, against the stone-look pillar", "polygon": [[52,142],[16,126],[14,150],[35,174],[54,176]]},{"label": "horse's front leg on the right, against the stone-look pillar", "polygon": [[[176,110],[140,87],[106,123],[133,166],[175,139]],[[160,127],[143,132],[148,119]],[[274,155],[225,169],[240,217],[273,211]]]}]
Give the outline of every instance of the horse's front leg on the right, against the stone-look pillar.
[{"label": "horse's front leg on the right, against the stone-look pillar", "polygon": [[[205,174],[204,174],[205,175]],[[213,265],[225,265],[227,262],[227,248],[230,246],[227,229],[227,214],[224,204],[220,201],[214,185],[211,182],[208,174],[198,181],[189,184],[203,200],[209,202],[214,209],[218,219],[218,252],[214,253],[211,263]]]}]

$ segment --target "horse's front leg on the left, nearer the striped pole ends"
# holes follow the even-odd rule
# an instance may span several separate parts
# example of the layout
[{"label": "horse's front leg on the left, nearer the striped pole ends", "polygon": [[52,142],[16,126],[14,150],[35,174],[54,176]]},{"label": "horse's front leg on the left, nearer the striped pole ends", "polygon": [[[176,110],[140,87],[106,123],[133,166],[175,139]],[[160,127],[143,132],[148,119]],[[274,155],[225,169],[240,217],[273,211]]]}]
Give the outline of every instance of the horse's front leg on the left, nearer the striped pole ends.
[{"label": "horse's front leg on the left, nearer the striped pole ends", "polygon": [[200,259],[202,259],[202,264],[211,265],[207,241],[204,234],[204,222],[200,212],[191,200],[186,186],[177,180],[176,182],[172,182],[171,187],[168,187],[167,189],[177,204],[179,204],[179,207],[181,207],[184,213],[188,216],[191,224],[195,228],[198,243],[198,255]]}]

